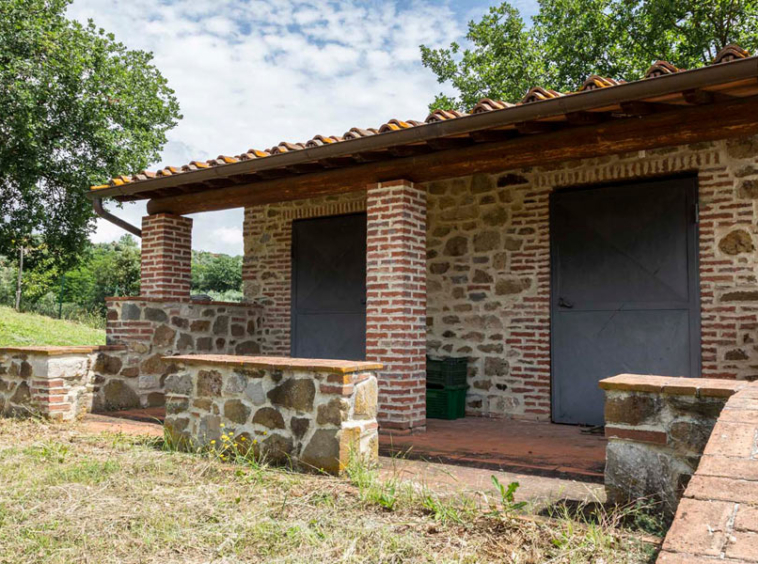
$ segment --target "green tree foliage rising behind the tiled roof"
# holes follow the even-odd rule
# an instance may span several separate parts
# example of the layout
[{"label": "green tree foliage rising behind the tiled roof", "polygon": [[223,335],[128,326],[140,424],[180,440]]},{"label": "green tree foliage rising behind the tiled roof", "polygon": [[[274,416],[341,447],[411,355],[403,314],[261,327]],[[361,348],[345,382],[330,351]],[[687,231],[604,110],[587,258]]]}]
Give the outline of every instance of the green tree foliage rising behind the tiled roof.
[{"label": "green tree foliage rising behind the tiled roof", "polygon": [[458,92],[431,109],[517,102],[533,86],[577,90],[592,74],[638,80],[659,59],[699,67],[730,43],[754,52],[758,0],[539,0],[531,26],[503,2],[469,22],[466,40],[421,46],[424,66]]}]

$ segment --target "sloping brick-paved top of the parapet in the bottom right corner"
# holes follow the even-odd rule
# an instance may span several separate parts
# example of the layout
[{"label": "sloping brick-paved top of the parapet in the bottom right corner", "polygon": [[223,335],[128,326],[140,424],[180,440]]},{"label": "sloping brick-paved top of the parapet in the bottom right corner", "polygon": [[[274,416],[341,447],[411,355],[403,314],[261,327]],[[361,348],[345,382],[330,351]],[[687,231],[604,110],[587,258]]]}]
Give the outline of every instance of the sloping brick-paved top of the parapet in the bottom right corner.
[{"label": "sloping brick-paved top of the parapet in the bottom right corner", "polygon": [[758,562],[758,384],[727,400],[657,562]]}]

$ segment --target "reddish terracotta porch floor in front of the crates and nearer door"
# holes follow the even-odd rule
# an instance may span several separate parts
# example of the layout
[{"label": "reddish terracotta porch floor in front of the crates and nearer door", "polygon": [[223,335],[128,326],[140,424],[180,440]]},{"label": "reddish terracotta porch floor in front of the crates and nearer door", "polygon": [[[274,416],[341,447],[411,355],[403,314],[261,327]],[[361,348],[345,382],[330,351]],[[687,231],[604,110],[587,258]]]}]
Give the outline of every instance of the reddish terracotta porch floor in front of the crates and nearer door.
[{"label": "reddish terracotta porch floor in front of the crates and nearer door", "polygon": [[426,433],[380,434],[384,456],[602,482],[605,444],[586,428],[534,421],[466,417],[427,419]]}]

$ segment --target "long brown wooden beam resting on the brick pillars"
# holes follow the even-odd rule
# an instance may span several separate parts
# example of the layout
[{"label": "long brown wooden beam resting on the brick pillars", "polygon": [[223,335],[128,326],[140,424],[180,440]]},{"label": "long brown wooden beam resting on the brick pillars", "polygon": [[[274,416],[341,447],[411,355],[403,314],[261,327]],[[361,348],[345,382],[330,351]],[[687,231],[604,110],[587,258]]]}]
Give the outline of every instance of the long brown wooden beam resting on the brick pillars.
[{"label": "long brown wooden beam resting on the brick pillars", "polygon": [[153,199],[148,203],[148,212],[183,215],[222,210],[353,192],[363,190],[368,184],[394,178],[428,182],[476,172],[499,172],[757,133],[758,96],[753,96],[718,105],[683,106],[674,111],[619,118],[599,125],[523,136],[499,143]]}]

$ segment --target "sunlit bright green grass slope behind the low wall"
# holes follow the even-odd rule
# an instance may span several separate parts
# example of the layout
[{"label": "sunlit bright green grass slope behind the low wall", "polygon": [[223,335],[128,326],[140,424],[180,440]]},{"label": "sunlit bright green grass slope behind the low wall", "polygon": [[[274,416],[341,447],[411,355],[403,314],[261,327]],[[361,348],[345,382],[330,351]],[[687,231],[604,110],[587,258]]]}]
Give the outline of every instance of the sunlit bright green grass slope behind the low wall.
[{"label": "sunlit bright green grass slope behind the low wall", "polygon": [[0,306],[0,347],[104,344],[102,329],[34,313],[18,313],[13,308]]}]

